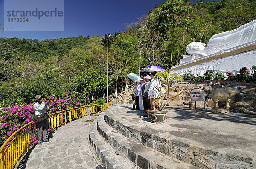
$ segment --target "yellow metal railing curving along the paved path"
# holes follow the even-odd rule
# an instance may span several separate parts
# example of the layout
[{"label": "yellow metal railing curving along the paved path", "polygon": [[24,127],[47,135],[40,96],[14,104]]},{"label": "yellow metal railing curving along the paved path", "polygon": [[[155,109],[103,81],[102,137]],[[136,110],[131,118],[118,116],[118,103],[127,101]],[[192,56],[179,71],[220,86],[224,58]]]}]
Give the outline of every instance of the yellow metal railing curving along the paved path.
[{"label": "yellow metal railing curving along the paved path", "polygon": [[[61,125],[82,116],[98,113],[112,107],[112,103],[94,104],[74,107],[60,112],[49,114],[48,128],[55,129]],[[12,169],[19,158],[37,141],[37,129],[34,121],[15,131],[0,148],[0,169]],[[8,144],[8,145],[7,145]]]}]

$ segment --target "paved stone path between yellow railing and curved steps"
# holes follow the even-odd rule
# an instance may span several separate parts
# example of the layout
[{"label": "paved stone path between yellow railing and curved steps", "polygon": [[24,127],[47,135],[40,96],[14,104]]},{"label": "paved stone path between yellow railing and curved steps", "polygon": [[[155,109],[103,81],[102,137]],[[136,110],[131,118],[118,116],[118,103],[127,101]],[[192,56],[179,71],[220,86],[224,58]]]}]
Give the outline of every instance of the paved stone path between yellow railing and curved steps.
[{"label": "paved stone path between yellow railing and curved steps", "polygon": [[16,169],[96,169],[97,163],[88,146],[91,115],[55,130],[51,143],[36,145],[16,164]]}]

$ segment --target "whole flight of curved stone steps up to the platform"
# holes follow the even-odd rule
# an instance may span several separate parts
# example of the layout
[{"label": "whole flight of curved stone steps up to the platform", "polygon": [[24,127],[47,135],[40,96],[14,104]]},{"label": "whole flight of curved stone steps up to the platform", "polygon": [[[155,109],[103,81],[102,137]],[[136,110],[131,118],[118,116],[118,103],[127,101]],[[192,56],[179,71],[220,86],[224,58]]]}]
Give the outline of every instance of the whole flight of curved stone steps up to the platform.
[{"label": "whole flight of curved stone steps up to the platform", "polygon": [[177,138],[164,132],[170,126],[167,122],[152,124],[143,113],[126,111],[116,106],[109,108],[90,126],[90,144],[106,169],[253,169],[255,166],[251,158],[254,152],[237,156],[231,154],[233,149],[228,152]]}]

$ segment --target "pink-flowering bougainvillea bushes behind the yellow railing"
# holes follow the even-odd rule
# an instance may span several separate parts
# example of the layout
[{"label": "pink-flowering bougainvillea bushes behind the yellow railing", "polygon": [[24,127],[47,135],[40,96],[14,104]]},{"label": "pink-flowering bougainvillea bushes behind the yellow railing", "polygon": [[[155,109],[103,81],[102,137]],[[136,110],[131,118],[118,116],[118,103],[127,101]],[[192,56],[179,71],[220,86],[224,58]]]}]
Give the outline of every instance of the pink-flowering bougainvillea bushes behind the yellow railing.
[{"label": "pink-flowering bougainvillea bushes behind the yellow railing", "polygon": [[[62,99],[50,96],[49,110],[47,110],[47,113],[51,114],[61,110],[87,105],[91,102],[89,99],[89,96],[91,95],[93,95],[93,92],[67,92],[64,93],[65,98]],[[34,103],[35,101],[32,101],[27,105],[15,105],[13,107],[0,108],[0,146],[10,135],[12,135],[12,133],[23,125],[33,121]],[[35,140],[33,144],[36,143],[37,141]]]}]

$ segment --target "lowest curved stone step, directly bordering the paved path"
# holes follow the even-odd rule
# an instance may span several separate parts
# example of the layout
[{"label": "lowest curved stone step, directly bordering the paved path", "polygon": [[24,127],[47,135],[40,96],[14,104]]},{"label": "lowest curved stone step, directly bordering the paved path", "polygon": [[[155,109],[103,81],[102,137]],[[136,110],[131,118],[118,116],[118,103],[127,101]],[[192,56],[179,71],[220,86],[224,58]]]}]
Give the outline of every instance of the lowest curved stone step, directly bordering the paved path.
[{"label": "lowest curved stone step, directly bordering the paved path", "polygon": [[[101,117],[102,119],[103,115],[100,115],[99,118]],[[97,119],[90,124],[89,140],[94,154],[102,166],[106,169],[138,169],[134,163],[131,163],[122,155],[117,155],[116,151],[99,135],[97,131]]]}]

